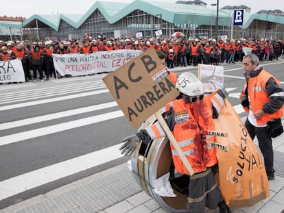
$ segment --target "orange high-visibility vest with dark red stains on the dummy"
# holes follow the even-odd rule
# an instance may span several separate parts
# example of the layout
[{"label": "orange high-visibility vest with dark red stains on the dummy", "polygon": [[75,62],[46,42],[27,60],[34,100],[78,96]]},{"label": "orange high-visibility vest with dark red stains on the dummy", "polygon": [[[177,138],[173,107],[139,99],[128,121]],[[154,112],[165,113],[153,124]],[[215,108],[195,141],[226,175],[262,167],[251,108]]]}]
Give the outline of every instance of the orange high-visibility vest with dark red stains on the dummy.
[{"label": "orange high-visibility vest with dark red stains on the dummy", "polygon": [[[193,172],[200,173],[206,171],[206,167],[217,164],[216,150],[206,143],[206,141],[213,141],[214,136],[204,135],[203,140],[200,135],[200,130],[207,131],[215,128],[212,118],[212,102],[209,97],[204,97],[202,101],[196,103],[185,103],[184,99],[178,99],[168,103],[165,107],[166,111],[170,108],[174,110],[176,121],[171,133],[191,164]],[[165,136],[158,122],[146,127],[145,130],[152,139]],[[189,175],[172,145],[171,155],[176,171]]]}]

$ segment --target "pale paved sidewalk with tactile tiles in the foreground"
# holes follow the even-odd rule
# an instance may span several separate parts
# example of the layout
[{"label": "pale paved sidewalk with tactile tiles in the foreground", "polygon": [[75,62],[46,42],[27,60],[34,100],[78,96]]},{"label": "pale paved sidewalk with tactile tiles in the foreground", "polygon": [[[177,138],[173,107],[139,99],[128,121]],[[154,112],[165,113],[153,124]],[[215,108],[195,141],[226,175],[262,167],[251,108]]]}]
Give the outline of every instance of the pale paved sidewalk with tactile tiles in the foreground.
[{"label": "pale paved sidewalk with tactile tiles in the foreground", "polygon": [[[244,120],[244,118],[242,118]],[[284,120],[282,120],[284,124]],[[275,179],[270,181],[270,197],[250,208],[234,213],[284,212],[284,134],[274,139]],[[128,164],[115,166],[66,186],[16,203],[0,213],[163,213],[161,206],[149,197],[134,180]],[[217,213],[207,210],[207,213]]]}]

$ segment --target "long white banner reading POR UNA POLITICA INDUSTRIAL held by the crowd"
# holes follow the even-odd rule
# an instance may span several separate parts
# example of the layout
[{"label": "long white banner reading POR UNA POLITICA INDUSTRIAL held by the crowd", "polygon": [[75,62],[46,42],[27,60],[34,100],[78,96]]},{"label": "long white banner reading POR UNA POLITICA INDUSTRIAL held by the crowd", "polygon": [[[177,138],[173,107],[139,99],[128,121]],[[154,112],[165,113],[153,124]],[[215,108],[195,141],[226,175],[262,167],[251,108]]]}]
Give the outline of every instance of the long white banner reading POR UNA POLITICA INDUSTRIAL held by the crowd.
[{"label": "long white banner reading POR UNA POLITICA INDUSTRIAL held by the crowd", "polygon": [[139,50],[121,49],[91,54],[54,54],[54,67],[61,76],[110,73],[141,53]]}]

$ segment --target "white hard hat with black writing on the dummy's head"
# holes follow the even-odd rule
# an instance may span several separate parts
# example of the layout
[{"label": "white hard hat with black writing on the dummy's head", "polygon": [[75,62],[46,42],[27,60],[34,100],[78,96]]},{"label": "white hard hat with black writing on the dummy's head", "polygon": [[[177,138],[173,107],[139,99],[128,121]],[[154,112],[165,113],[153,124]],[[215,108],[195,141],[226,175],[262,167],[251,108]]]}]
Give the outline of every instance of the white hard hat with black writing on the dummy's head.
[{"label": "white hard hat with black writing on the dummy's head", "polygon": [[176,88],[188,96],[203,95],[203,86],[200,80],[193,73],[182,73],[176,82]]}]

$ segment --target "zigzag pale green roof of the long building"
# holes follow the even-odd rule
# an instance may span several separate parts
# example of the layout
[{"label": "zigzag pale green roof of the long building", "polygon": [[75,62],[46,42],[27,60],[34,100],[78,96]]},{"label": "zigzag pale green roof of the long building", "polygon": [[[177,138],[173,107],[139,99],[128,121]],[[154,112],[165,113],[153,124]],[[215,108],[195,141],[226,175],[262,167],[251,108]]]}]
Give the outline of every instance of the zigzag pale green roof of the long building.
[{"label": "zigzag pale green roof of the long building", "polygon": [[[58,31],[60,21],[69,23],[72,27],[79,28],[86,19],[99,10],[109,23],[115,23],[121,18],[127,16],[134,10],[141,10],[152,14],[153,16],[162,16],[162,19],[174,24],[199,24],[211,25],[212,17],[216,16],[216,10],[202,7],[199,5],[187,5],[179,3],[161,3],[156,1],[136,0],[132,3],[122,2],[106,2],[97,1],[85,14],[56,14],[56,15],[39,15],[34,14],[23,22],[23,27],[36,27],[36,20],[38,20],[38,27],[51,27]],[[229,26],[231,24],[233,10],[219,10],[219,24]],[[247,28],[252,21],[262,20],[275,23],[284,24],[283,16],[273,16],[267,14],[250,14],[245,12],[244,25],[241,28]],[[5,27],[21,28],[21,23],[16,25],[1,24]],[[6,26],[7,25],[7,26]]]}]

